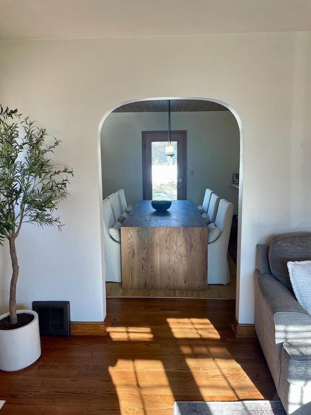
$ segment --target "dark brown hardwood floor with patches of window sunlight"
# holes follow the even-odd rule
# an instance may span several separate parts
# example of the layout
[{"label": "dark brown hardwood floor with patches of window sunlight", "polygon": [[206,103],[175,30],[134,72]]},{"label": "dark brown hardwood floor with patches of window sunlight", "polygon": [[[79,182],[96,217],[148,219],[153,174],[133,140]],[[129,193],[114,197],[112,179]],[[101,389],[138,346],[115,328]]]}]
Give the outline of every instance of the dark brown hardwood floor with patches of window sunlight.
[{"label": "dark brown hardwood floor with patches of window sunlight", "polygon": [[234,300],[108,298],[106,337],[42,337],[29,368],[0,372],[1,415],[172,415],[174,400],[273,399]]}]

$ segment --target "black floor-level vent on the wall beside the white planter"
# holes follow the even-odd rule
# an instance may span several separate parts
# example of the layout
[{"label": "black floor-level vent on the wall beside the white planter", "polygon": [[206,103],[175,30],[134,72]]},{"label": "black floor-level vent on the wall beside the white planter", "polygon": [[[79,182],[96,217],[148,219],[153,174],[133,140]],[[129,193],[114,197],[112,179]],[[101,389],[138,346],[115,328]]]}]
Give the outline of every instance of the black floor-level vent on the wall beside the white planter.
[{"label": "black floor-level vent on the wall beside the white planter", "polygon": [[69,301],[33,301],[33,310],[39,316],[41,336],[70,335]]}]

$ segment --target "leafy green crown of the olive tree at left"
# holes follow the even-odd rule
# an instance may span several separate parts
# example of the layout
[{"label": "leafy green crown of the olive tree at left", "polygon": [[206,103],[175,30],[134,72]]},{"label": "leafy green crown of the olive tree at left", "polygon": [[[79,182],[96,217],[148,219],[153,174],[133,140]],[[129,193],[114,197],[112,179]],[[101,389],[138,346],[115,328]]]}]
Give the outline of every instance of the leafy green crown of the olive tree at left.
[{"label": "leafy green crown of the olive tree at left", "polygon": [[68,196],[69,177],[73,171],[67,165],[56,165],[51,154],[60,146],[45,128],[36,126],[26,117],[22,121],[17,109],[0,105],[0,240],[14,233],[21,224],[63,226],[53,212],[61,200]]}]

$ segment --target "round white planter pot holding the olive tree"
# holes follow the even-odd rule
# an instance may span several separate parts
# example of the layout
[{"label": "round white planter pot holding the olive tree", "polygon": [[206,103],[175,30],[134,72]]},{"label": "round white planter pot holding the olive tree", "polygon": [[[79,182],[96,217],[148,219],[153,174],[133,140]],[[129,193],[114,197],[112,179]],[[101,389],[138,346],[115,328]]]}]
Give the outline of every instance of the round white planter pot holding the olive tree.
[{"label": "round white planter pot holding the olive tree", "polygon": [[[33,310],[18,310],[35,316],[28,325],[13,330],[0,330],[0,369],[7,372],[24,369],[41,355],[39,317]],[[9,313],[2,314],[0,319]]]}]

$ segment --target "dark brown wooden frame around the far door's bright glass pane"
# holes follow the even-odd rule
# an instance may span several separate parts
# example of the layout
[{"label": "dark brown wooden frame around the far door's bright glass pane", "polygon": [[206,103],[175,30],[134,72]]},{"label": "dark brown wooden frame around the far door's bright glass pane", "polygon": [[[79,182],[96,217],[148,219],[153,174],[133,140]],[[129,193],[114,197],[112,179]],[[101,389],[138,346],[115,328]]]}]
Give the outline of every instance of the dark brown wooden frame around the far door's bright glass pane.
[{"label": "dark brown wooden frame around the far door's bright glass pane", "polygon": [[[150,158],[148,152],[146,151],[146,135],[150,136],[148,140],[150,143],[152,141],[163,141],[165,140],[153,140],[152,136],[163,134],[168,137],[168,131],[141,131],[141,151],[142,151],[142,198],[146,200],[147,198],[147,184],[152,183],[152,171],[148,171],[147,165],[148,162],[147,158]],[[174,135],[181,135],[181,138],[174,138]],[[171,131],[171,141],[177,141],[177,186],[178,180],[182,178],[183,180],[183,187],[182,187],[182,200],[187,199],[187,131],[186,130],[172,130]],[[178,152],[178,144],[182,145],[182,152]],[[151,160],[149,161],[151,165]],[[182,166],[182,167],[180,167]],[[178,189],[177,189],[178,194]],[[178,197],[177,197],[178,198]]]}]

